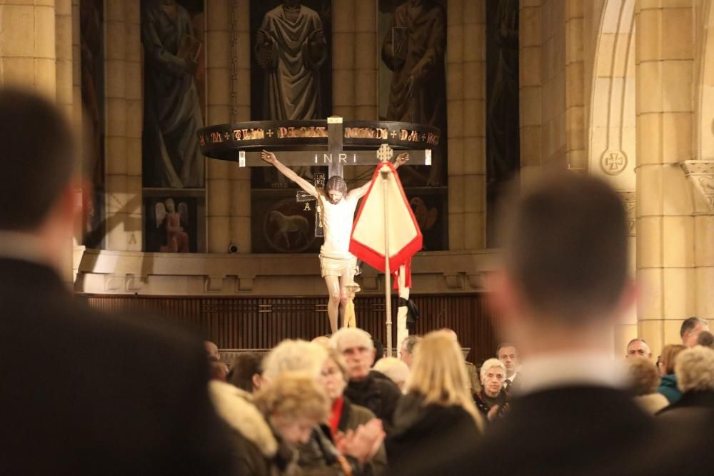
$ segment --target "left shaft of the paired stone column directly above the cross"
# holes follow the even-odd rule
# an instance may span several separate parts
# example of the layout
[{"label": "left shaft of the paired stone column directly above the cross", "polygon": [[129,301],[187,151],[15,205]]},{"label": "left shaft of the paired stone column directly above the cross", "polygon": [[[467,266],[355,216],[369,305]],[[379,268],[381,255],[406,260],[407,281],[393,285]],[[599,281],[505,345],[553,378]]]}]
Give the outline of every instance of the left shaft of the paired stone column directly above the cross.
[{"label": "left shaft of the paired stone column directly above the cross", "polygon": [[[373,0],[365,3],[373,4]],[[351,121],[356,117],[355,0],[333,0],[332,12],[332,113]]]}]

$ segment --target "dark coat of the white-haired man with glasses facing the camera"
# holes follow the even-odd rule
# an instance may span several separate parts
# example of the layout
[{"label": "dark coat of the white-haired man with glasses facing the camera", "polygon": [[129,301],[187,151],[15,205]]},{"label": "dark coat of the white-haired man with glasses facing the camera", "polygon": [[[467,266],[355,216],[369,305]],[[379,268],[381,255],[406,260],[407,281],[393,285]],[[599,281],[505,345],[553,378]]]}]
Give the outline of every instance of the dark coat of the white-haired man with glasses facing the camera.
[{"label": "dark coat of the white-haired man with glasses facing the camera", "polygon": [[367,378],[360,382],[350,380],[344,394],[355,405],[361,405],[371,410],[376,417],[382,420],[384,430],[387,433],[391,432],[394,410],[396,410],[401,392],[386,375],[372,370]]}]

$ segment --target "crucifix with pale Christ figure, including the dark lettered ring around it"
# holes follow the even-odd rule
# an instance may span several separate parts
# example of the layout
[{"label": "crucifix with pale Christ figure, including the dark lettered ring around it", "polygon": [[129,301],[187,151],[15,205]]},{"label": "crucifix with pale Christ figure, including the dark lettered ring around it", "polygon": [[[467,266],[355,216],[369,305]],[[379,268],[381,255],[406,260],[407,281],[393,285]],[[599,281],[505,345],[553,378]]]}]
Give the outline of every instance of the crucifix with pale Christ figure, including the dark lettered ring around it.
[{"label": "crucifix with pale Christ figure, including the dark lettered ring around it", "polygon": [[[327,121],[256,121],[221,124],[198,131],[201,151],[211,158],[238,161],[239,167],[274,166],[303,191],[298,201],[316,203],[318,224],[325,238],[320,248],[320,269],[328,289],[328,316],[332,332],[338,329],[356,271],[356,257],[349,252],[357,203],[371,183],[347,190],[344,166],[376,165],[375,149],[383,143],[401,149],[395,167],[409,160],[431,165],[431,149],[438,146],[437,128],[413,123],[351,121],[341,117]],[[325,145],[327,146],[325,149]],[[268,151],[266,149],[273,149]],[[236,154],[236,151],[238,153]],[[276,156],[280,156],[280,160]],[[306,181],[290,166],[328,166],[324,187]]]}]

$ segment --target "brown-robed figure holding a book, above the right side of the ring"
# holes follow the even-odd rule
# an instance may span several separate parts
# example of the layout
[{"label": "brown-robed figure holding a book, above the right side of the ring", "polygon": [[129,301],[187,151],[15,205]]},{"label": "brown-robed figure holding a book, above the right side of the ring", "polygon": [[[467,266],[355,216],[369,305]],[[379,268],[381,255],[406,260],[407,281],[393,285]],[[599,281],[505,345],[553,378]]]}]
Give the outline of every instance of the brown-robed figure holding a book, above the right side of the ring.
[{"label": "brown-robed figure holding a book, above the right side of the ring", "polygon": [[[394,11],[382,44],[382,60],[391,71],[388,121],[446,125],[446,11],[433,0],[407,0]],[[444,134],[446,136],[446,134]],[[439,185],[443,161],[439,148],[421,184]],[[415,174],[415,168],[410,168]]]}]

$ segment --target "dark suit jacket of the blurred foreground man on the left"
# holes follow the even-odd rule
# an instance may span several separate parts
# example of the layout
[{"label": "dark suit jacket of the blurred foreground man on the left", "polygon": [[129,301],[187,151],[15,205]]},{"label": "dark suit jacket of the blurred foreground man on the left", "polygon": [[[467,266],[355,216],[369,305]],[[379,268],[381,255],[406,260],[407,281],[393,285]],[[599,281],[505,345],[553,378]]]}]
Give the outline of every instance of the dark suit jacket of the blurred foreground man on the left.
[{"label": "dark suit jacket of the blurred foreground man on the left", "polygon": [[200,340],[78,303],[0,259],[2,475],[232,474]]}]

